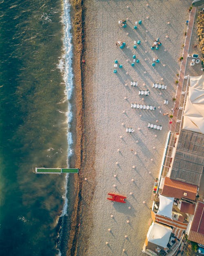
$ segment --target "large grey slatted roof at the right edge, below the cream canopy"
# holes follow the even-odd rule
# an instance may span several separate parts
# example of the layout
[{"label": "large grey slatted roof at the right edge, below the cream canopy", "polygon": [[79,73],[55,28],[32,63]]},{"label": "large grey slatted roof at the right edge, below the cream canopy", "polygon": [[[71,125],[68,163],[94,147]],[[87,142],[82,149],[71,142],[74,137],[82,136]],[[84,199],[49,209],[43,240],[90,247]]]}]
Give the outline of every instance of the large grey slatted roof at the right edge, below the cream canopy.
[{"label": "large grey slatted roof at the right edge, below the cream canopy", "polygon": [[170,178],[200,185],[204,168],[204,134],[181,129]]}]

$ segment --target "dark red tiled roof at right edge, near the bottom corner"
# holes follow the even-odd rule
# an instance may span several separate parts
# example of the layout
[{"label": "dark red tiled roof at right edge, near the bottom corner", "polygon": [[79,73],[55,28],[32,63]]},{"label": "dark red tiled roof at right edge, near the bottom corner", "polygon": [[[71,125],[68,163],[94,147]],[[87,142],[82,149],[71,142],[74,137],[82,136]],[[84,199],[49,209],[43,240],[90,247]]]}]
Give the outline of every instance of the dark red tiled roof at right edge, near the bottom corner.
[{"label": "dark red tiled roof at right edge, near the bottom corner", "polygon": [[198,202],[188,240],[204,244],[204,203]]}]

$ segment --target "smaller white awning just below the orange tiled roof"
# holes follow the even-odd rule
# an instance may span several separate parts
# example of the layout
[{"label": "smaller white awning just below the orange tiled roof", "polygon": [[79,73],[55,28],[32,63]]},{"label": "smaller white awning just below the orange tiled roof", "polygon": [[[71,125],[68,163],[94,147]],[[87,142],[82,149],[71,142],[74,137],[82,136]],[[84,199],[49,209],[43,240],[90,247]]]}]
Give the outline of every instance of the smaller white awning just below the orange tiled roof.
[{"label": "smaller white awning just below the orange tiled roof", "polygon": [[160,194],[160,206],[157,211],[158,215],[171,218],[174,197],[164,197]]}]

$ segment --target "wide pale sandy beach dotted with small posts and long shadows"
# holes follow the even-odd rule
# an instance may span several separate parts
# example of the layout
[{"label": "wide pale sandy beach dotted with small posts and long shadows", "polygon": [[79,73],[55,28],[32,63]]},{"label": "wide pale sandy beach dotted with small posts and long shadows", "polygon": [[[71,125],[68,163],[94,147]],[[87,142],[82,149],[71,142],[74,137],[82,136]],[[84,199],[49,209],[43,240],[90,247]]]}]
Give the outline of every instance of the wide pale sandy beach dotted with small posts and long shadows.
[{"label": "wide pale sandy beach dotted with small posts and long shadows", "polygon": [[[82,194],[83,219],[77,255],[140,256],[144,255],[142,246],[151,218],[154,180],[159,174],[169,131],[169,117],[159,111],[172,113],[176,74],[180,70],[178,59],[182,54],[191,1],[86,0],[84,4],[84,134],[86,157],[90,154],[89,149],[94,151],[95,177],[87,166],[80,175],[88,179],[83,181],[87,195],[92,186],[95,191],[92,191],[91,203],[86,193]],[[118,20],[127,18],[127,27],[122,28]],[[135,30],[133,27],[138,20],[142,20],[142,25],[137,24]],[[159,50],[151,50],[157,37],[162,46]],[[134,49],[137,40],[141,40],[141,44]],[[117,41],[126,42],[128,48],[117,48]],[[133,54],[140,60],[134,67],[131,66]],[[153,58],[160,59],[155,67],[151,66]],[[123,65],[117,68],[116,74],[113,73],[115,59],[118,66]],[[138,86],[130,86],[131,81],[137,81]],[[166,84],[167,89],[152,88],[153,83]],[[138,95],[139,90],[146,89],[150,91],[149,96]],[[169,104],[164,105],[164,100],[169,100]],[[153,105],[156,109],[131,109],[131,103]],[[162,125],[162,131],[148,128],[149,122]],[[135,132],[126,133],[126,127],[132,127]],[[125,195],[126,204],[112,204],[106,199],[110,192]]]}]

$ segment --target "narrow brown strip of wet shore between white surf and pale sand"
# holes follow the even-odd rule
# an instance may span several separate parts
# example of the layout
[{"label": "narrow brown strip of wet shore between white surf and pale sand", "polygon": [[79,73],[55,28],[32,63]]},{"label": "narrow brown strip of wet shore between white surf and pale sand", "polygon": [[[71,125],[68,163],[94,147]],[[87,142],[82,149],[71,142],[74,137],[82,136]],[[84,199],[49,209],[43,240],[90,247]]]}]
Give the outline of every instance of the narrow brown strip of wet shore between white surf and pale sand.
[{"label": "narrow brown strip of wet shore between white surf and pale sand", "polygon": [[[73,136],[73,155],[68,159],[69,165],[79,168],[78,175],[69,175],[68,191],[69,207],[67,210],[69,229],[67,256],[75,255],[75,248],[78,236],[79,212],[80,212],[80,193],[82,184],[80,176],[82,175],[82,133],[83,133],[83,99],[82,99],[82,0],[71,0],[71,22],[73,34],[73,95],[71,105],[73,111],[73,119],[70,131]],[[79,72],[80,70],[80,72]]]}]

